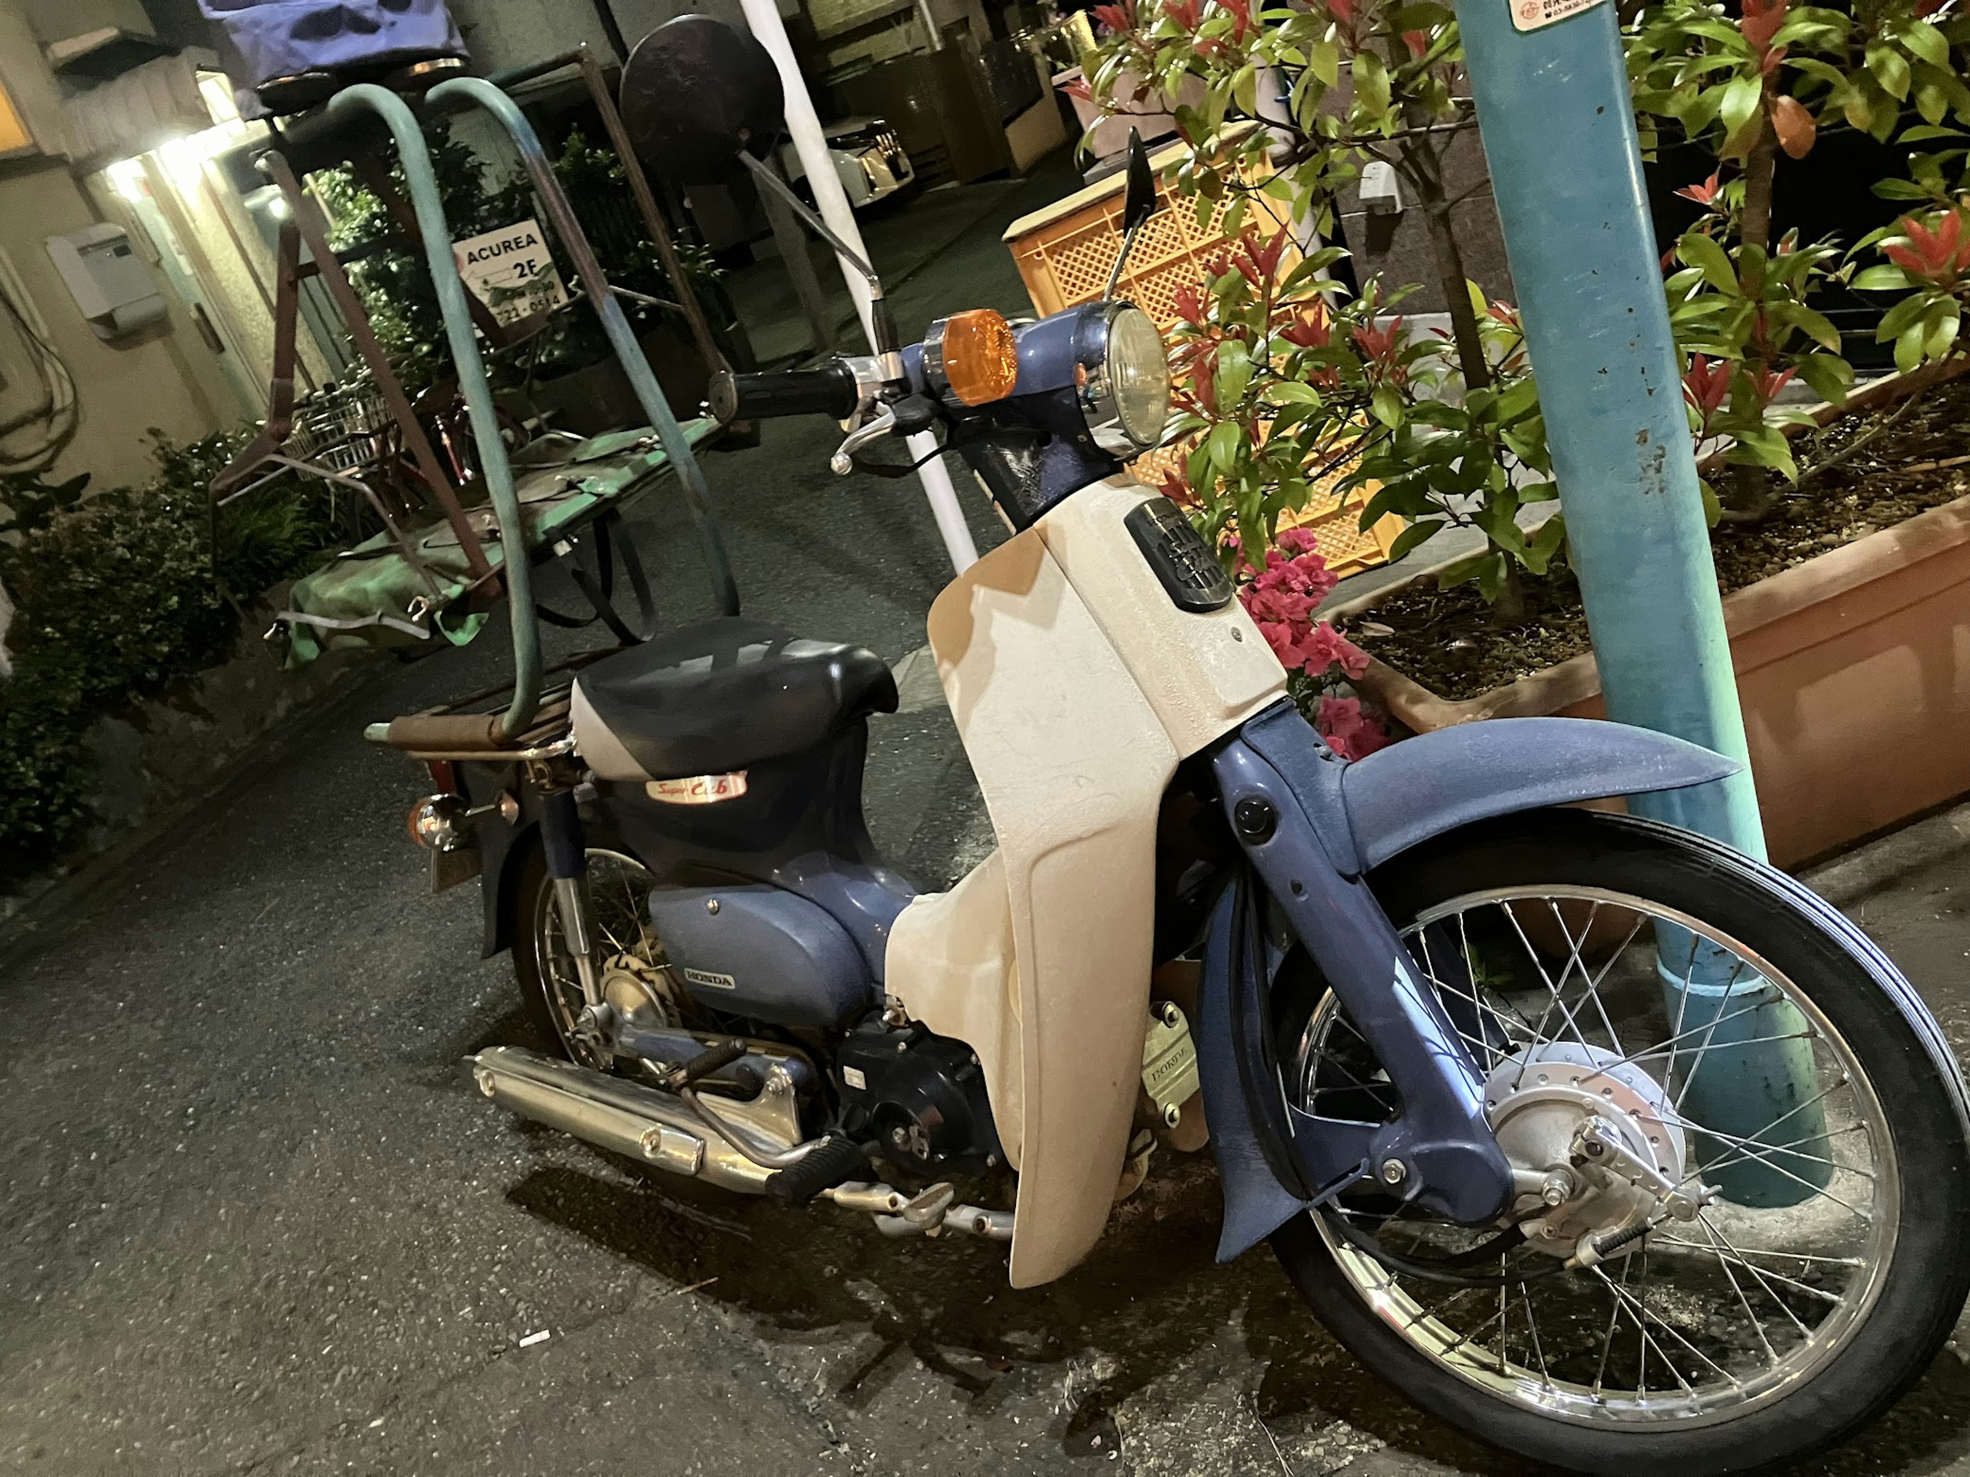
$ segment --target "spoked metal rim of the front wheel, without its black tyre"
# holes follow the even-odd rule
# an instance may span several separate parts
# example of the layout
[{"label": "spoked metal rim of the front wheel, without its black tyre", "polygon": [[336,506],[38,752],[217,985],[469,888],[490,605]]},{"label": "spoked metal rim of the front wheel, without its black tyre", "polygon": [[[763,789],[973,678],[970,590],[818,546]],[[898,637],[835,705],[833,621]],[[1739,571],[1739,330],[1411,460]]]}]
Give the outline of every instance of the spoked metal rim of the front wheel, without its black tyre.
[{"label": "spoked metal rim of the front wheel, without its black tyre", "polygon": [[[1604,1103],[1641,1099],[1625,1105],[1631,1123],[1673,1126],[1694,1150],[1673,1164],[1678,1189],[1716,1193],[1694,1219],[1576,1272],[1539,1243],[1552,1217],[1537,1197],[1517,1207],[1533,1235],[1478,1264],[1468,1252],[1505,1239],[1499,1227],[1342,1203],[1322,1233],[1403,1337],[1507,1398],[1608,1422],[1702,1420],[1769,1398],[1848,1337],[1893,1247],[1893,1144],[1854,1054],[1797,985],[1694,918],[1602,888],[1474,892],[1403,933],[1487,1073],[1493,1128],[1499,1109],[1554,1081]],[[1791,1107],[1745,1105],[1728,1079],[1726,1060],[1741,1067],[1759,1048],[1805,1067]],[[1387,1117],[1377,1075],[1326,996],[1294,1060],[1298,1105],[1332,1115],[1326,1099],[1344,1095]],[[1736,1203],[1734,1184],[1779,1203]],[[1576,1225],[1558,1225],[1572,1251]],[[1395,1270],[1428,1262],[1454,1266]]]}]

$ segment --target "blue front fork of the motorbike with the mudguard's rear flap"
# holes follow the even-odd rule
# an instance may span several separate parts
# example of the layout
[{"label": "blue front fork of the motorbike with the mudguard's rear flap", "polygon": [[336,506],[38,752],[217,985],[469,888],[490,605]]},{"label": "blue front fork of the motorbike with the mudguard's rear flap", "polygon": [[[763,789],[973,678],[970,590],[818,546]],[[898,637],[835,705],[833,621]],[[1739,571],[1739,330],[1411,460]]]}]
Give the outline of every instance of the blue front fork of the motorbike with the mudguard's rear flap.
[{"label": "blue front fork of the motorbike with the mudguard's rear flap", "polygon": [[[1334,863],[1322,837],[1346,825],[1334,792],[1290,784],[1243,738],[1212,766],[1251,868],[1219,900],[1200,1000],[1204,1111],[1225,1182],[1219,1258],[1363,1178],[1452,1221],[1493,1219],[1511,1166],[1483,1117],[1483,1079],[1367,882]],[[1265,894],[1387,1071],[1387,1123],[1320,1117],[1280,1091],[1271,983],[1284,947],[1269,937]]]}]

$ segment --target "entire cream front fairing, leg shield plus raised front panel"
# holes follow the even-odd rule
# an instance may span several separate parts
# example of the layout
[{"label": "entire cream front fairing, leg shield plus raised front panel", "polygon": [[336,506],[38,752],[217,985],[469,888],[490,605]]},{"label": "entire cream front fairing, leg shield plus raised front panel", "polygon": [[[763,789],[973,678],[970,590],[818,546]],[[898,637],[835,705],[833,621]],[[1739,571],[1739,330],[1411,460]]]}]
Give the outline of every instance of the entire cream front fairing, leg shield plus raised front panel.
[{"label": "entire cream front fairing, leg shield plus raised front panel", "polygon": [[1101,1235],[1143,1067],[1154,837],[1178,760],[1286,687],[1233,601],[1180,610],[1123,528],[1156,496],[1084,488],[938,597],[930,648],[999,851],[912,902],[886,991],[969,1044],[1018,1168],[1015,1286]]}]

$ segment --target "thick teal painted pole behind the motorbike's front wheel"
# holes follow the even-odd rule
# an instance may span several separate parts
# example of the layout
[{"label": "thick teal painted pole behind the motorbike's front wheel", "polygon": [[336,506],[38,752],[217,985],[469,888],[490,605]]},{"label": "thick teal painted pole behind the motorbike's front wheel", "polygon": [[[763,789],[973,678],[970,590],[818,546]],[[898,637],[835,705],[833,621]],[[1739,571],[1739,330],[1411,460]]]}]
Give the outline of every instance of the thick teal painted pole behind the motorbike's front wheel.
[{"label": "thick teal painted pole behind the motorbike's front wheel", "polygon": [[[1615,6],[1600,0],[1537,30],[1513,24],[1515,10],[1537,18],[1560,6],[1458,0],[1458,26],[1602,693],[1617,723],[1745,764],[1728,780],[1637,796],[1631,807],[1763,861]],[[1801,1032],[1803,1020],[1767,981],[1732,973],[1736,959],[1692,943],[1682,930],[1657,930],[1669,1018],[1714,1028],[1692,1038],[1712,1052],[1682,1111],[1749,1138],[1814,1091],[1810,1056],[1791,1050],[1805,1042],[1773,1040]],[[1684,1071],[1688,1063],[1682,1056]],[[1810,1115],[1785,1119],[1781,1142],[1818,1132]],[[1702,1156],[1728,1158],[1722,1144],[1706,1140]],[[1740,1203],[1812,1193],[1795,1166],[1789,1176],[1773,1164],[1743,1160],[1718,1180]]]}]

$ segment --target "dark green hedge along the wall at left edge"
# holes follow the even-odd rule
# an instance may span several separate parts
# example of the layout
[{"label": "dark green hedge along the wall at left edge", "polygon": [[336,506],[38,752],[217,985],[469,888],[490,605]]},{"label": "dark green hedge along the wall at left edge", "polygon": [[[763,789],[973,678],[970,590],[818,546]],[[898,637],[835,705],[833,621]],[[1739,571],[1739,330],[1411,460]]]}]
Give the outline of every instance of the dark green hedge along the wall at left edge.
[{"label": "dark green hedge along the wall at left edge", "polygon": [[91,821],[83,738],[106,713],[225,662],[242,601],[339,544],[321,484],[284,479],[217,514],[205,484],[246,433],[173,445],[156,477],[0,477],[0,583],[14,599],[0,683],[0,884],[47,867]]}]

